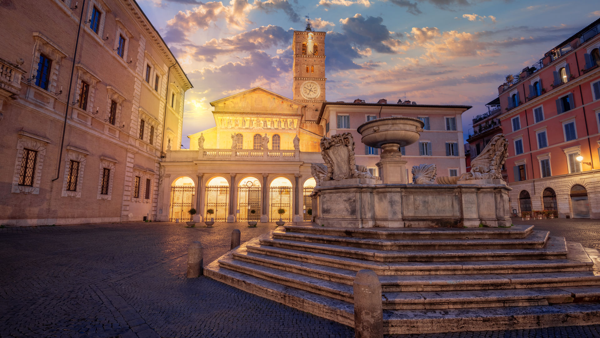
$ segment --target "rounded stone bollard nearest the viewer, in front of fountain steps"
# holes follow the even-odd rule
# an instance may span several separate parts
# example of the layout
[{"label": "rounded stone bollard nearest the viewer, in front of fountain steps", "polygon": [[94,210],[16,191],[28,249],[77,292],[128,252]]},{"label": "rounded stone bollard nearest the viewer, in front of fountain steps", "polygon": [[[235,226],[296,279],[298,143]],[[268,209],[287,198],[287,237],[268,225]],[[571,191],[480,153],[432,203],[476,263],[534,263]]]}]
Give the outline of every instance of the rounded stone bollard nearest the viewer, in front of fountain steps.
[{"label": "rounded stone bollard nearest the viewer, in front of fountain steps", "polygon": [[373,270],[354,278],[354,332],[356,338],[383,338],[381,283]]}]

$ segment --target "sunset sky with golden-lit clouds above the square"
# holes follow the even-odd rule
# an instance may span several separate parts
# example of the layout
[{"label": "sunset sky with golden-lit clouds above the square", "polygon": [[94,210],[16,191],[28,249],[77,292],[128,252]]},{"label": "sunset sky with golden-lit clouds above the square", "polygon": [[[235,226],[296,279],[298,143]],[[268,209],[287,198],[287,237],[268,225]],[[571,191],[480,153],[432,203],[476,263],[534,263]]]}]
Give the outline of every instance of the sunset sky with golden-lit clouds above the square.
[{"label": "sunset sky with golden-lit clouds above the square", "polygon": [[326,31],[326,99],[471,105],[600,17],[599,1],[137,0],[194,88],[182,144],[215,125],[209,102],[260,86],[292,97],[292,31]]}]

